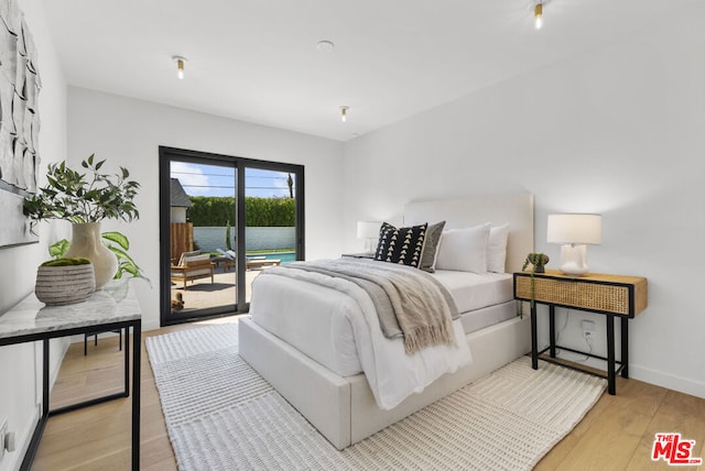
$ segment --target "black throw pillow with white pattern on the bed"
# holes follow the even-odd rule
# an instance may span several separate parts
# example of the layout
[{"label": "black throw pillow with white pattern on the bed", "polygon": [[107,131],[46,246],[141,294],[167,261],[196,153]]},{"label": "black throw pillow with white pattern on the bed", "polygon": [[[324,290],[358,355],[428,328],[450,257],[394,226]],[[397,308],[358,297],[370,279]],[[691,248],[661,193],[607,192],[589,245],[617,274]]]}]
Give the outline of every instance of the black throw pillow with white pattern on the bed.
[{"label": "black throw pillow with white pattern on the bed", "polygon": [[382,222],[375,260],[419,267],[427,228],[427,223],[395,228],[388,222]]}]

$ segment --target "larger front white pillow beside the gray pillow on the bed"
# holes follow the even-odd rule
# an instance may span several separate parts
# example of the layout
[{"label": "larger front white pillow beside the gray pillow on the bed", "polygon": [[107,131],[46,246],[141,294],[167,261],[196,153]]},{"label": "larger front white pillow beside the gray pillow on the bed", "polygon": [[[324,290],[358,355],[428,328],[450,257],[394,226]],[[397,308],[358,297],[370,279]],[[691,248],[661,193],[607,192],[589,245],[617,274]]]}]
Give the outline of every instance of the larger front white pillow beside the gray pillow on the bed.
[{"label": "larger front white pillow beside the gray pillow on the bed", "polygon": [[451,229],[441,236],[437,270],[487,273],[487,240],[490,223]]}]

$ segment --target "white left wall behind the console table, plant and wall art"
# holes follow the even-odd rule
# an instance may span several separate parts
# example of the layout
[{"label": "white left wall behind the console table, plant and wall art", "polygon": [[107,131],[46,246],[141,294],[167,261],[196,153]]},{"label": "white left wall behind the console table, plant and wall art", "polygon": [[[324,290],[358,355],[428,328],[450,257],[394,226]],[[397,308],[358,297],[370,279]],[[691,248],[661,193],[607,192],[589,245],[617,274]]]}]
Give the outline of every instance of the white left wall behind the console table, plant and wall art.
[{"label": "white left wall behind the console table, plant and wall art", "polygon": [[[19,0],[25,14],[28,26],[34,39],[39,56],[39,72],[42,90],[39,96],[40,155],[42,167],[57,162],[66,155],[66,81],[46,26],[40,0]],[[45,179],[40,178],[40,185]],[[0,218],[2,215],[0,215]],[[40,243],[11,249],[0,249],[0,314],[10,309],[34,288],[36,266],[48,259],[47,239],[54,236],[54,228],[43,223]],[[57,371],[57,362],[67,344],[52,342],[52,376]],[[0,461],[0,470],[19,468],[29,435],[34,430],[37,418],[36,404],[41,402],[37,375],[41,374],[41,344],[0,347],[0,420],[8,418],[10,431],[17,434],[18,450],[8,453]]]}]

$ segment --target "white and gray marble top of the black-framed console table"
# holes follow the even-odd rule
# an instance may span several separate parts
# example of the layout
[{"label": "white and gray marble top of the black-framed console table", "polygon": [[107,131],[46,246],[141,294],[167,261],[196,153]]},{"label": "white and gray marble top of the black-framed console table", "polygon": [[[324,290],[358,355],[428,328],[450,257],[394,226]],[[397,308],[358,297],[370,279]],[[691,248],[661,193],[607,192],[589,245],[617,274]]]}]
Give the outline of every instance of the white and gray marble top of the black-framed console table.
[{"label": "white and gray marble top of the black-framed console table", "polygon": [[137,320],[141,315],[129,280],[112,281],[83,303],[66,306],[46,306],[31,294],[0,315],[0,339]]}]

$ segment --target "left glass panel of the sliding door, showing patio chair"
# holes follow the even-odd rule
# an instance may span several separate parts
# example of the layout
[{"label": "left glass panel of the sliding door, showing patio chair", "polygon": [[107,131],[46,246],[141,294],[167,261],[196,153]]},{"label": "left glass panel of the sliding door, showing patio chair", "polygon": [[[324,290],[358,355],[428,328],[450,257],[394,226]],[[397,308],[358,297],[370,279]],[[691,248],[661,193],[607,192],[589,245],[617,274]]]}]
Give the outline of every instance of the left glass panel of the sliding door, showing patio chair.
[{"label": "left glass panel of the sliding door, showing patio chair", "polygon": [[170,162],[173,316],[236,310],[236,178],[232,164]]}]

